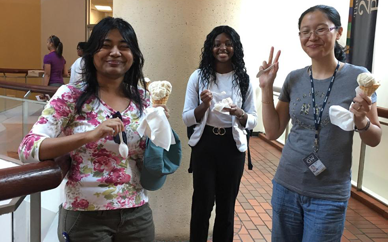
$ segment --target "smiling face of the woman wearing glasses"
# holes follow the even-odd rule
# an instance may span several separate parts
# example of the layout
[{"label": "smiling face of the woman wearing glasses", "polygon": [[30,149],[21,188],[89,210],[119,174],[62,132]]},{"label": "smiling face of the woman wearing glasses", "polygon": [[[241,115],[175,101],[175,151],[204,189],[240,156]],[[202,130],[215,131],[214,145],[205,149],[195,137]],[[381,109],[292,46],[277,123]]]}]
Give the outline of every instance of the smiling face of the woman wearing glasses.
[{"label": "smiling face of the woman wearing glasses", "polygon": [[[317,10],[306,14],[300,24],[300,31],[314,31],[320,28],[335,27],[327,16]],[[313,32],[310,37],[300,38],[303,50],[311,59],[321,59],[332,55],[334,57],[334,46],[342,34],[342,27],[329,31],[324,35],[317,35]]]}]

